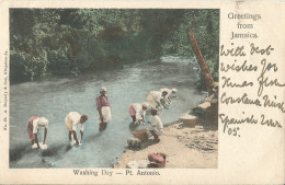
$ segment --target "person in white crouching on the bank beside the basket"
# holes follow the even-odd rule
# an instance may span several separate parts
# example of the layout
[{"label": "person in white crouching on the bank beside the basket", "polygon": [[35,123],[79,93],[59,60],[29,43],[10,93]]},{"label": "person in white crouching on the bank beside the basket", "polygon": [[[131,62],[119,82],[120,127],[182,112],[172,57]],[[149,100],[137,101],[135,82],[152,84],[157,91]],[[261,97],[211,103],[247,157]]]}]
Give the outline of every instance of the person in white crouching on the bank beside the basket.
[{"label": "person in white crouching on the bank beside the basket", "polygon": [[151,109],[151,122],[150,122],[150,128],[149,131],[155,137],[155,141],[160,141],[159,136],[163,132],[163,124],[158,116],[158,111],[156,108]]}]

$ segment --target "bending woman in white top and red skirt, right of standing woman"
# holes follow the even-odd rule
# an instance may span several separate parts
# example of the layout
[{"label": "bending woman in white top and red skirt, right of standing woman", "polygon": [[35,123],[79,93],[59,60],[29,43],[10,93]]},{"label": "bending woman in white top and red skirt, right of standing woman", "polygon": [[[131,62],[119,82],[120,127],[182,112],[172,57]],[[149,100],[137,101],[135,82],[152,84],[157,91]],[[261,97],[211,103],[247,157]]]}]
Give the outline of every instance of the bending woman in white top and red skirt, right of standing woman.
[{"label": "bending woman in white top and red skirt, right of standing woman", "polygon": [[133,103],[128,108],[128,113],[133,119],[133,123],[144,123],[147,108],[148,108],[147,102]]}]

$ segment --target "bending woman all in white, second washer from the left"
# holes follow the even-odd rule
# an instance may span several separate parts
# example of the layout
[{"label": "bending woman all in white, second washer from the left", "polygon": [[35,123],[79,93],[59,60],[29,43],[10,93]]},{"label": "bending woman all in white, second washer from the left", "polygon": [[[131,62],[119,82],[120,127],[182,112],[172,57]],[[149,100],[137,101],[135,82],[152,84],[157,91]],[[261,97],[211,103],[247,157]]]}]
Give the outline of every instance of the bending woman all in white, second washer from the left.
[{"label": "bending woman all in white, second washer from the left", "polygon": [[66,127],[68,129],[68,138],[70,140],[70,143],[73,144],[75,141],[77,144],[79,144],[79,141],[77,139],[77,127],[80,126],[80,143],[82,143],[82,138],[83,138],[83,128],[84,128],[84,123],[87,122],[88,116],[87,115],[80,115],[77,112],[70,112],[66,118]]}]

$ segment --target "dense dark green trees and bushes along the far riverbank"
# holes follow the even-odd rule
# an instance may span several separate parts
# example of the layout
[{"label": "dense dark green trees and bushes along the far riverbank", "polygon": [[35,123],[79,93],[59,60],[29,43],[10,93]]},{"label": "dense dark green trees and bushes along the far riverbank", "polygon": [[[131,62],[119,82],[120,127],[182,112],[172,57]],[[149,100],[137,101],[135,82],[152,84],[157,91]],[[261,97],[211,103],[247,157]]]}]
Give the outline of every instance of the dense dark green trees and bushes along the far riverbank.
[{"label": "dense dark green trees and bushes along the far riverbank", "polygon": [[176,54],[195,32],[218,77],[218,10],[10,9],[10,81],[78,76]]}]

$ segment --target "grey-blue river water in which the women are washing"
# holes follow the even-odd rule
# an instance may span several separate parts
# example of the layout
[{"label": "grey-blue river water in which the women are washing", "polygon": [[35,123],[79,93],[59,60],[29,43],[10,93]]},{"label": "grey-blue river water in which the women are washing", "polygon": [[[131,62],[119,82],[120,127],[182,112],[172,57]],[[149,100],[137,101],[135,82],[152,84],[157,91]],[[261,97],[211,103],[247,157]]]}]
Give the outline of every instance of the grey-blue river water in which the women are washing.
[{"label": "grey-blue river water in which the women are washing", "polygon": [[[190,59],[163,57],[122,70],[11,85],[10,167],[111,167],[133,137],[128,106],[145,102],[149,91],[176,88],[180,97],[160,113],[164,124],[176,120],[205,97],[195,90],[195,69]],[[99,132],[95,97],[102,85],[113,119]],[[80,147],[69,146],[65,116],[71,111],[89,116]],[[31,149],[25,127],[32,115],[49,119],[46,150]]]}]

